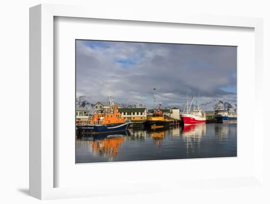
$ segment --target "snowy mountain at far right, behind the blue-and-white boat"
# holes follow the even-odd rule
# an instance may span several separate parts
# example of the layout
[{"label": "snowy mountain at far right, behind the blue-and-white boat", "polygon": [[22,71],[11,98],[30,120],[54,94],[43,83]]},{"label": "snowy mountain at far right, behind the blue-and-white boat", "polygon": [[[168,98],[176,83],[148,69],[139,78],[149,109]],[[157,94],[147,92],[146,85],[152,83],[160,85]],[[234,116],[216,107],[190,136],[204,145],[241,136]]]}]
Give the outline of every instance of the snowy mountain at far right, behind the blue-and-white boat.
[{"label": "snowy mountain at far right, behind the blue-and-white boat", "polygon": [[219,99],[213,99],[210,102],[201,103],[202,110],[215,110],[215,109],[225,109],[228,112],[236,112],[237,106],[231,102],[223,102]]}]

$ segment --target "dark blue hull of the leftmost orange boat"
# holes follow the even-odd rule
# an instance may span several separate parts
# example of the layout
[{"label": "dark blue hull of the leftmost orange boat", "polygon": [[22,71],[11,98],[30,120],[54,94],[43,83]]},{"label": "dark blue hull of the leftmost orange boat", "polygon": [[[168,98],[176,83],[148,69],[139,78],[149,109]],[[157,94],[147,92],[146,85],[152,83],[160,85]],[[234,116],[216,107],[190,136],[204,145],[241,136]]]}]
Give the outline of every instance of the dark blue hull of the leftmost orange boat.
[{"label": "dark blue hull of the leftmost orange boat", "polygon": [[81,134],[99,134],[99,133],[108,133],[108,132],[118,132],[125,131],[129,129],[130,123],[117,123],[117,124],[109,124],[109,125],[88,125],[78,127],[79,135]]}]

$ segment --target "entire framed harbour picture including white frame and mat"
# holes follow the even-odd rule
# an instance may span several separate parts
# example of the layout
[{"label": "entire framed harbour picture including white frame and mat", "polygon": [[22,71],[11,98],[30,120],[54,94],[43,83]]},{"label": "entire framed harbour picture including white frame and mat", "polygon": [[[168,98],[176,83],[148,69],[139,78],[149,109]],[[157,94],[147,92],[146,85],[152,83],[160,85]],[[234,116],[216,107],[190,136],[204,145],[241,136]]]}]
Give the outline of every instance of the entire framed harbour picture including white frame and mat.
[{"label": "entire framed harbour picture including white frame and mat", "polygon": [[88,9],[30,8],[30,195],[261,186],[262,19]]}]

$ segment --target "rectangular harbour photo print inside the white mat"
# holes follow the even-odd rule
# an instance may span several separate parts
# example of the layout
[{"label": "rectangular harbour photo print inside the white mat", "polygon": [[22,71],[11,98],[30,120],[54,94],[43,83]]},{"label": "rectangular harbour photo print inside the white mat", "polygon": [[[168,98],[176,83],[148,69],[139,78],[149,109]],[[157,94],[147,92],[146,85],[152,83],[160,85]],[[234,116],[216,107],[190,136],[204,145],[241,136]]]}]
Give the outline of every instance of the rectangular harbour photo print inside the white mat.
[{"label": "rectangular harbour photo print inside the white mat", "polygon": [[76,163],[237,156],[236,46],[75,43]]}]

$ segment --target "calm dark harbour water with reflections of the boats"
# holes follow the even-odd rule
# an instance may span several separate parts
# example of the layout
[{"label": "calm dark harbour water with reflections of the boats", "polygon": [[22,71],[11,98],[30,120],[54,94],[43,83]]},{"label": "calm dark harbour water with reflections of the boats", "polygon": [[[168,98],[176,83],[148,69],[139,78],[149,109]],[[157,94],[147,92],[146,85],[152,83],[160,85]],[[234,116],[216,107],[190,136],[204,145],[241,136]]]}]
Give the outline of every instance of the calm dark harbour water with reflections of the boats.
[{"label": "calm dark harbour water with reflections of the boats", "polygon": [[237,156],[237,122],[77,137],[76,163]]}]

